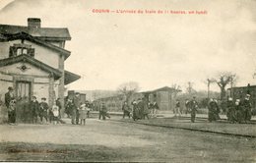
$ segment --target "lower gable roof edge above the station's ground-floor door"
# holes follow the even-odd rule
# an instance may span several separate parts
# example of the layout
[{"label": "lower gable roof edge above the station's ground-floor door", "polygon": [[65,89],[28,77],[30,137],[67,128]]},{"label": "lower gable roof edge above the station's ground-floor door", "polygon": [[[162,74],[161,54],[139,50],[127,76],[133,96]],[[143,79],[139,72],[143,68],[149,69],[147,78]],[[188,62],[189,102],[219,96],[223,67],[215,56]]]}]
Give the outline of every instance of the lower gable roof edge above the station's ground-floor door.
[{"label": "lower gable roof edge above the station's ground-floor door", "polygon": [[48,73],[52,74],[55,80],[58,80],[62,76],[62,73],[59,70],[54,69],[54,68],[52,68],[52,67],[50,67],[50,66],[48,66],[48,65],[46,65],[46,64],[44,64],[44,63],[42,63],[38,60],[32,58],[31,56],[29,56],[27,54],[2,59],[2,60],[0,60],[0,67],[13,65],[13,64],[16,64],[16,63],[19,63],[19,62],[30,63],[33,66],[35,66],[35,67],[37,67],[37,68],[39,68],[39,69],[41,69],[45,72],[48,72]]}]

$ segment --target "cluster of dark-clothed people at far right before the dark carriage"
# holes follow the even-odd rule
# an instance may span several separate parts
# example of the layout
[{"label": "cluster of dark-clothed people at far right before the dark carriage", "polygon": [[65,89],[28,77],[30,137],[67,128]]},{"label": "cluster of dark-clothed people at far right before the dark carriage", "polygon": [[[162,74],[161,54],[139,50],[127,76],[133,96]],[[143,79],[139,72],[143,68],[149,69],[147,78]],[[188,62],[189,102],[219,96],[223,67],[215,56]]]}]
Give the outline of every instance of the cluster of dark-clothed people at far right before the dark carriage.
[{"label": "cluster of dark-clothed people at far right before the dark carriage", "polygon": [[252,104],[250,94],[246,94],[244,99],[228,98],[226,104],[226,117],[230,123],[248,123],[251,120]]}]

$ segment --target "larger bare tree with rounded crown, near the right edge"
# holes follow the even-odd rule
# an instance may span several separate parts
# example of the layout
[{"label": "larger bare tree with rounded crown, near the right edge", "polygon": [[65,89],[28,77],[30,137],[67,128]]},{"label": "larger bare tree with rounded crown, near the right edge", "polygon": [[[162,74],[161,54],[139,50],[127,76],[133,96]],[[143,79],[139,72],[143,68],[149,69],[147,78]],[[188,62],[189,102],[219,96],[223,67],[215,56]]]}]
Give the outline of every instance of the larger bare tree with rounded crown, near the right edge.
[{"label": "larger bare tree with rounded crown, near the right edge", "polygon": [[221,88],[221,100],[224,100],[225,86],[228,83],[231,83],[231,87],[232,87],[234,81],[236,81],[236,75],[232,74],[230,72],[220,73],[220,75],[218,76],[218,78],[215,81],[219,85],[219,87]]}]

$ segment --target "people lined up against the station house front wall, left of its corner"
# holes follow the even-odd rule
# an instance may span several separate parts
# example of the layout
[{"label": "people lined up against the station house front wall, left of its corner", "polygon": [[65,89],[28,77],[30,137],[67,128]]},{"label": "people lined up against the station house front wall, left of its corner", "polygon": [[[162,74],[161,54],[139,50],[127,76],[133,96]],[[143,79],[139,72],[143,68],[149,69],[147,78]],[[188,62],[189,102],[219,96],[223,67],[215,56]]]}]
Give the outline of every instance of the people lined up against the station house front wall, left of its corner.
[{"label": "people lined up against the station house front wall, left of its corner", "polygon": [[[17,118],[17,101],[14,96],[13,87],[8,87],[8,92],[5,94],[5,105],[8,109],[8,122],[9,124],[16,124]],[[37,124],[46,123],[56,124],[60,121],[61,104],[59,98],[54,101],[53,106],[50,108],[46,102],[46,98],[42,97],[38,102],[35,96],[29,101],[29,97],[24,97],[23,101],[19,103],[20,118],[24,123]],[[39,120],[39,121],[38,121]]]}]

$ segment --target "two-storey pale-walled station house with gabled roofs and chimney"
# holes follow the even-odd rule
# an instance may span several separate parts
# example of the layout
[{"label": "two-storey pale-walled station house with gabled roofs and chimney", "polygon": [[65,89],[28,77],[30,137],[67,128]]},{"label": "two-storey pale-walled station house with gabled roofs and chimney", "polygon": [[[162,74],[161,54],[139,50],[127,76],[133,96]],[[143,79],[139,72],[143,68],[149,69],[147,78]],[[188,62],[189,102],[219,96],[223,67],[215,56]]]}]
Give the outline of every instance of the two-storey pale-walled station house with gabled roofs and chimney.
[{"label": "two-storey pale-walled station house with gabled roofs and chimney", "polygon": [[70,39],[68,28],[41,27],[37,18],[29,18],[28,27],[0,25],[2,98],[12,86],[18,102],[34,95],[46,97],[50,106],[59,97],[64,105],[64,86],[80,79],[64,69],[71,55],[65,42]]}]

